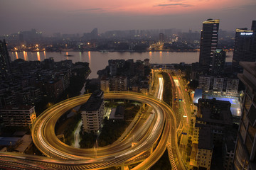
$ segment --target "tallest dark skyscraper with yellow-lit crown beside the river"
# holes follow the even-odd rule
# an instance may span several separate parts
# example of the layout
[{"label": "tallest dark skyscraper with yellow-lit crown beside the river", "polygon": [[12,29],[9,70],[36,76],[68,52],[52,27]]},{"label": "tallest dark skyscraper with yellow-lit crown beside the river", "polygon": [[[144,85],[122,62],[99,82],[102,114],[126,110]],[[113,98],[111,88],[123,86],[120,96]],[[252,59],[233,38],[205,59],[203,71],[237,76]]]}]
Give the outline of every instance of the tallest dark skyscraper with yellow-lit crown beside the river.
[{"label": "tallest dark skyscraper with yellow-lit crown beside the river", "polygon": [[218,44],[218,28],[220,20],[208,19],[203,22],[201,30],[199,64],[205,72],[211,72],[213,67],[213,52]]}]

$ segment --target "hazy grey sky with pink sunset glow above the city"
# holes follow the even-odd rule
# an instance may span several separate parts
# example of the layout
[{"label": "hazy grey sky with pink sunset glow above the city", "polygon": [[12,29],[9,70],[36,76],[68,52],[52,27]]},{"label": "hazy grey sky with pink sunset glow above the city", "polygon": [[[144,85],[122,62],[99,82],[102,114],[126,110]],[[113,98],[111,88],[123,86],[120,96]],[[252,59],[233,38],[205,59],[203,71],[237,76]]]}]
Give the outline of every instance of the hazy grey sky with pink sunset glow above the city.
[{"label": "hazy grey sky with pink sunset glow above the city", "polygon": [[255,0],[0,0],[0,35],[36,28],[43,35],[106,30],[189,28],[200,31],[208,18],[220,29],[250,28]]}]

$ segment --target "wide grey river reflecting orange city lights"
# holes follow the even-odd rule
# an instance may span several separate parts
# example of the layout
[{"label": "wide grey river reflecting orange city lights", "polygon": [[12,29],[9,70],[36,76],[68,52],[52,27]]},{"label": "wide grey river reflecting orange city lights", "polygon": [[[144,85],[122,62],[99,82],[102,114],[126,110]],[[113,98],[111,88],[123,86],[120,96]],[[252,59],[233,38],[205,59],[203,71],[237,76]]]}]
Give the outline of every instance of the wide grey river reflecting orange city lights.
[{"label": "wide grey river reflecting orange city lights", "polygon": [[[43,61],[53,57],[55,62],[72,60],[75,62],[89,62],[92,73],[89,79],[97,78],[97,70],[104,69],[108,60],[116,59],[149,59],[151,64],[171,64],[185,62],[190,64],[199,61],[199,52],[9,52],[11,60],[21,58],[26,61]],[[227,52],[226,62],[231,62],[233,51]]]}]

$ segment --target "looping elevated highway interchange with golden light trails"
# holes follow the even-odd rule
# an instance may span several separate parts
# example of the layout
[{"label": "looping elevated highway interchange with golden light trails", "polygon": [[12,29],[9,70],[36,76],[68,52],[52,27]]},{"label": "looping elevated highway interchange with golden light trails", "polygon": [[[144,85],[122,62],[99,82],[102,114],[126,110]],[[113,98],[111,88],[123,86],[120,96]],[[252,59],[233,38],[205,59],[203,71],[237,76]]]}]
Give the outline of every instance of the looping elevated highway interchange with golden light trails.
[{"label": "looping elevated highway interchange with golden light trails", "polygon": [[55,123],[63,113],[85,103],[89,95],[84,95],[70,98],[48,108],[33,124],[31,130],[33,142],[47,157],[6,154],[6,152],[1,152],[0,157],[5,159],[5,162],[9,159],[18,159],[24,164],[39,164],[48,169],[104,169],[118,165],[127,167],[126,165],[133,159],[139,160],[139,157],[151,151],[149,157],[146,159],[142,157],[141,163],[133,168],[149,169],[164,154],[167,147],[171,166],[174,169],[185,169],[178,152],[176,116],[172,109],[161,101],[163,84],[163,79],[159,77],[157,98],[131,92],[105,93],[106,100],[139,101],[153,108],[151,114],[142,115],[132,131],[121,142],[114,142],[106,147],[80,149],[65,145],[58,140],[55,136]]}]

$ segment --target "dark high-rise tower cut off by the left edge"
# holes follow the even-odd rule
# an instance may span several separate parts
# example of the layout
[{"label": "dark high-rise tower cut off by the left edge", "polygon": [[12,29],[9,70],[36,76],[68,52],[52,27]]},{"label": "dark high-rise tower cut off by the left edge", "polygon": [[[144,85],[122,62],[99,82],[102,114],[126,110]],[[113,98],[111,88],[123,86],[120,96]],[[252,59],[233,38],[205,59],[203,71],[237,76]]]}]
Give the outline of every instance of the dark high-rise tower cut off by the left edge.
[{"label": "dark high-rise tower cut off by the left edge", "polygon": [[6,47],[6,42],[0,40],[0,78],[6,79],[11,73],[11,57]]}]

